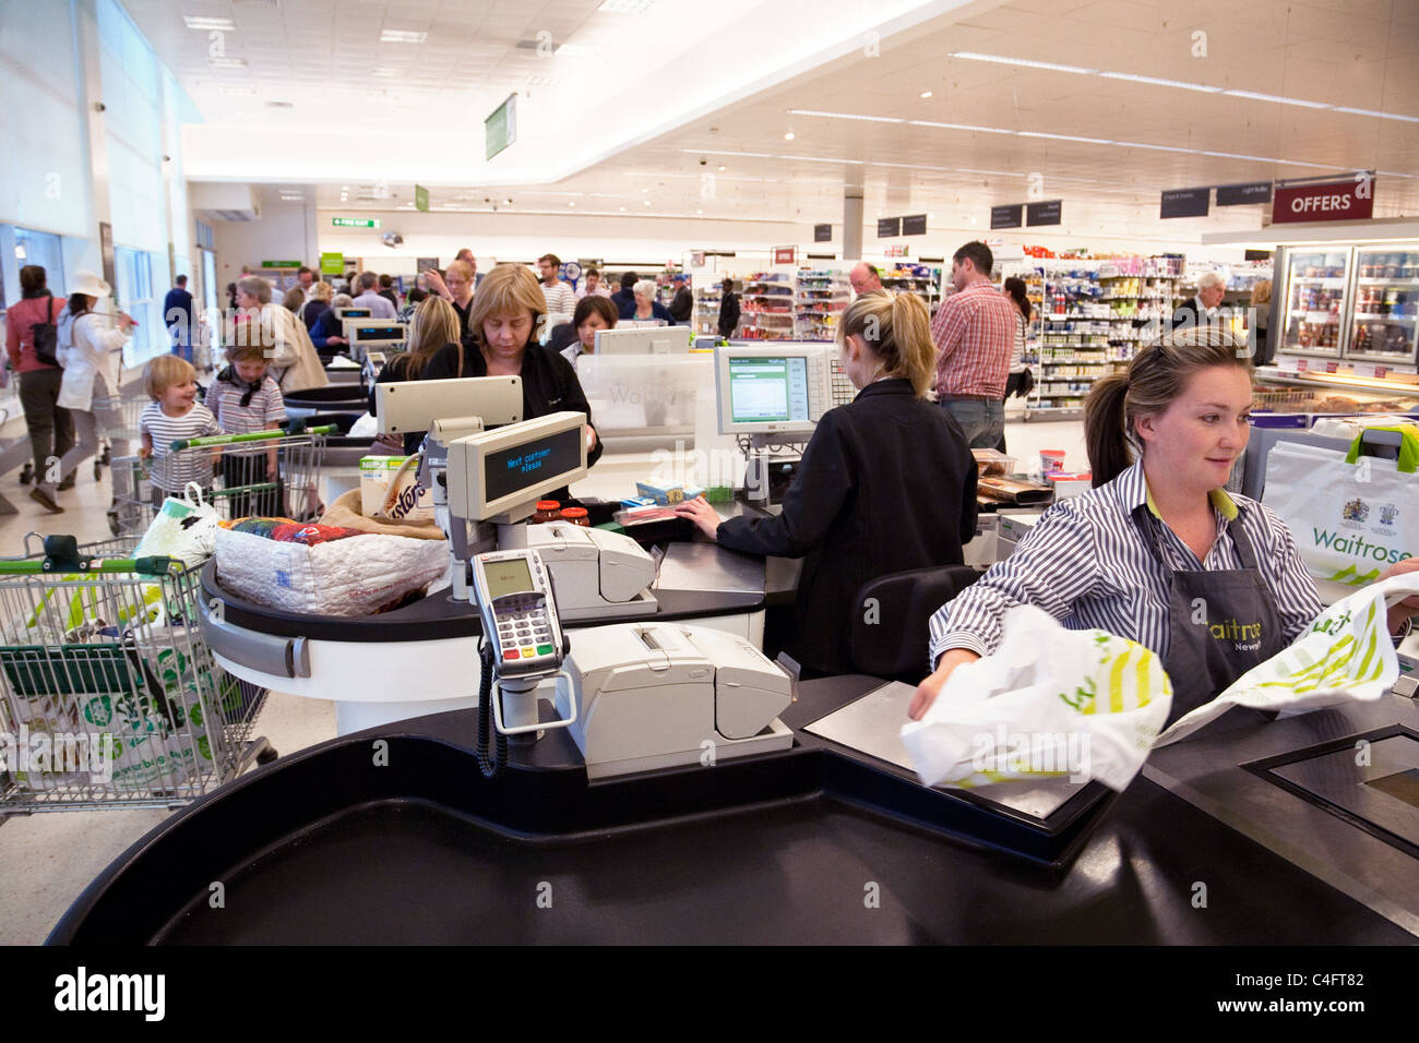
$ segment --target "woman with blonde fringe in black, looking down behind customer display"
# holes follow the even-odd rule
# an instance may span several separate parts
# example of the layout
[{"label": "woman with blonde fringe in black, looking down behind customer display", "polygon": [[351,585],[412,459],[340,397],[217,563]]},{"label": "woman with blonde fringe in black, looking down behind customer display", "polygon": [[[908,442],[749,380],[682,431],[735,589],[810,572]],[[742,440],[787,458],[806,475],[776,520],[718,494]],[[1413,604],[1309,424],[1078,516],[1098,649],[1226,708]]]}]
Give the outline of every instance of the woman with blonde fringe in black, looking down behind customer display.
[{"label": "woman with blonde fringe in black, looking down behind customer display", "polygon": [[[468,308],[468,335],[438,349],[420,379],[521,376],[522,419],[549,413],[585,413],[586,463],[602,456],[592,407],[572,363],[538,345],[546,299],[536,277],[521,264],[499,264],[478,284]],[[565,491],[562,497],[565,498]],[[549,494],[551,495],[551,494]]]}]

